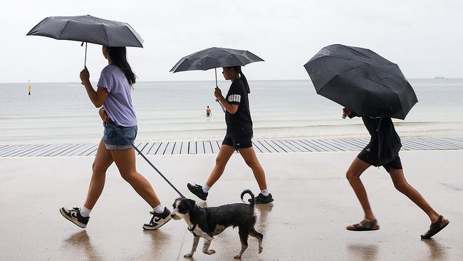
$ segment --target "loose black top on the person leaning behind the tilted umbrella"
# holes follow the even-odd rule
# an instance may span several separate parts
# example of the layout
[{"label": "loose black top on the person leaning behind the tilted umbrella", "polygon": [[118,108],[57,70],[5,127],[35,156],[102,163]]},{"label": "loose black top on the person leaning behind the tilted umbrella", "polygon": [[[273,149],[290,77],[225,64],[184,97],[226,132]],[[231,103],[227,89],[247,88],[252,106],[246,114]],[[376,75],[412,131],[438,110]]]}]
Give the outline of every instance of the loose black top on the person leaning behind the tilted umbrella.
[{"label": "loose black top on the person leaning behind the tilted umbrella", "polygon": [[[352,114],[349,117],[353,118],[355,116]],[[402,143],[395,131],[391,118],[362,117],[362,121],[371,135],[370,143],[368,143],[365,149],[369,148],[372,155],[378,155],[374,165],[385,165],[395,160],[397,155],[399,155]]]}]

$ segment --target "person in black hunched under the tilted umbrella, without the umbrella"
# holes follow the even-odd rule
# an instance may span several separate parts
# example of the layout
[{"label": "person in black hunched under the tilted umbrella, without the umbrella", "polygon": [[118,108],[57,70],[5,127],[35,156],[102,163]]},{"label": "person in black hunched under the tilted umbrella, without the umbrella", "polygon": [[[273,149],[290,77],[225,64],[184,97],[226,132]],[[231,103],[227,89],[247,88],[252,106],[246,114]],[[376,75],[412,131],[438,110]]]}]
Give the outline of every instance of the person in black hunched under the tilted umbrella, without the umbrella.
[{"label": "person in black hunched under the tilted umbrella, without the umbrella", "polygon": [[[356,117],[348,108],[343,108],[343,118]],[[362,117],[365,127],[371,135],[370,143],[358,154],[350,165],[346,178],[350,186],[352,186],[355,195],[357,195],[360,205],[362,205],[365,218],[358,224],[349,225],[347,230],[353,231],[368,231],[378,230],[380,226],[378,221],[373,215],[368,202],[367,193],[360,175],[371,165],[376,167],[383,166],[387,173],[389,173],[392,183],[400,193],[410,198],[418,207],[420,207],[430,218],[430,229],[421,235],[422,239],[428,239],[437,234],[440,230],[449,224],[449,220],[439,215],[429,203],[422,197],[422,195],[407,183],[405,175],[402,170],[402,162],[399,158],[399,150],[402,147],[399,135],[395,131],[394,124],[391,118],[371,118]]]}]

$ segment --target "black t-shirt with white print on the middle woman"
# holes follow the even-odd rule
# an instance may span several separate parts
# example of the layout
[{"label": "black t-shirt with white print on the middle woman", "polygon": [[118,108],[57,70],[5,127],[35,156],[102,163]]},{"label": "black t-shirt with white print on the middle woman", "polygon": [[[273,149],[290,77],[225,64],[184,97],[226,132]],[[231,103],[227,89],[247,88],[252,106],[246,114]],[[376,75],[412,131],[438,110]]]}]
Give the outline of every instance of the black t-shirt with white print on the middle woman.
[{"label": "black t-shirt with white print on the middle woman", "polygon": [[225,99],[230,104],[238,104],[238,111],[235,114],[231,114],[228,111],[225,112],[225,122],[227,123],[226,137],[234,138],[252,135],[248,93],[241,79],[237,79],[231,83]]}]

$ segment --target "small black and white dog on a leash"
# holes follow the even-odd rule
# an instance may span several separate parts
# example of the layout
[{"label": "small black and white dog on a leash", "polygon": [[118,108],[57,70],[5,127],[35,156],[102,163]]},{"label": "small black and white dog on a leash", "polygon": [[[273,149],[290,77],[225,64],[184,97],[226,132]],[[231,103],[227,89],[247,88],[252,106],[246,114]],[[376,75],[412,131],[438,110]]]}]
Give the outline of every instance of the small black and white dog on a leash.
[{"label": "small black and white dog on a leash", "polygon": [[251,204],[235,203],[221,205],[219,207],[201,208],[194,200],[177,198],[173,205],[172,218],[175,220],[184,219],[188,224],[188,230],[193,233],[192,251],[184,257],[192,257],[198,246],[199,237],[204,237],[202,252],[207,255],[215,253],[209,250],[212,237],[219,235],[227,227],[239,228],[239,239],[241,240],[241,252],[235,258],[241,258],[244,250],[248,247],[248,237],[256,237],[259,240],[259,253],[262,252],[262,238],[264,235],[254,229],[256,215],[254,215],[254,194],[251,190],[244,190],[241,193],[241,200],[245,194],[251,195]]}]

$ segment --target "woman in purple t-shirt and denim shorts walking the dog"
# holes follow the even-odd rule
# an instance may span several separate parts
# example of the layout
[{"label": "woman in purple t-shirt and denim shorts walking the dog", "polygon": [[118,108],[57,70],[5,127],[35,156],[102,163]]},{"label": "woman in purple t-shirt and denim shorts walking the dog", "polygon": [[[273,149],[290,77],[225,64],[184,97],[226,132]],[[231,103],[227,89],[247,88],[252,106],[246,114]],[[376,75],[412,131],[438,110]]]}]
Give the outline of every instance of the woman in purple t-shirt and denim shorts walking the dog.
[{"label": "woman in purple t-shirt and denim shorts walking the dog", "polygon": [[125,47],[103,46],[103,56],[108,59],[108,66],[101,71],[97,91],[90,83],[87,68],[80,72],[80,80],[90,101],[96,108],[103,106],[99,113],[105,127],[92,166],[90,188],[82,208],[61,208],[60,212],[64,218],[85,228],[90,211],[103,191],[106,170],[114,162],[124,180],[153,208],[150,212],[152,218],[143,228],[156,230],[171,217],[170,211],[160,203],[148,180],[137,173],[135,167],[135,150],[130,144],[137,136],[137,117],[130,97],[135,73],[127,61]]}]

